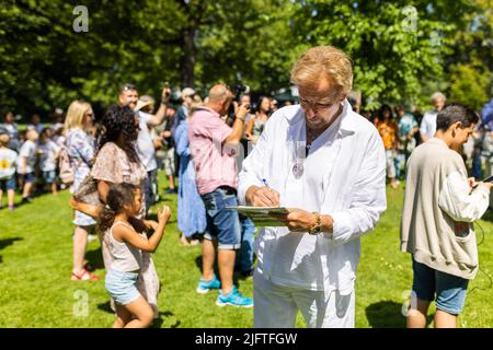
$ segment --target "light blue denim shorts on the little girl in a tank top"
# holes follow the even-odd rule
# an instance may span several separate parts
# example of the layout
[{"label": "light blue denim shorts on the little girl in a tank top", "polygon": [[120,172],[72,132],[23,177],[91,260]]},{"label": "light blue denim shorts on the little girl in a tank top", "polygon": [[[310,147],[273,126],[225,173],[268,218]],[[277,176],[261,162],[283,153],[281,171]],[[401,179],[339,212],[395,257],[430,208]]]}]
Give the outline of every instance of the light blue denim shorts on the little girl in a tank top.
[{"label": "light blue denim shorts on the little girl in a tank top", "polygon": [[122,272],[110,269],[106,273],[106,292],[121,305],[136,301],[140,293],[137,290],[137,272]]}]

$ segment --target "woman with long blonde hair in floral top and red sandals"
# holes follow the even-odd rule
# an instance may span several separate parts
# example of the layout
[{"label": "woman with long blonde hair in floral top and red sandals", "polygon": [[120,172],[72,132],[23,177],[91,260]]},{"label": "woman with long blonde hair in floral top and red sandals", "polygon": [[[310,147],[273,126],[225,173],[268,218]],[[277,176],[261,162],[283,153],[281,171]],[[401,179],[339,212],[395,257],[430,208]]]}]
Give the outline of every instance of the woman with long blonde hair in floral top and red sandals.
[{"label": "woman with long blonde hair in floral top and red sandals", "polygon": [[[82,101],[73,101],[65,121],[66,148],[73,168],[72,192],[76,192],[84,177],[91,171],[94,160],[94,138],[88,132],[92,126],[93,113],[91,105]],[[94,229],[95,221],[91,217],[77,211],[73,223],[73,268],[72,280],[98,280],[99,277],[84,269],[88,233]]]}]

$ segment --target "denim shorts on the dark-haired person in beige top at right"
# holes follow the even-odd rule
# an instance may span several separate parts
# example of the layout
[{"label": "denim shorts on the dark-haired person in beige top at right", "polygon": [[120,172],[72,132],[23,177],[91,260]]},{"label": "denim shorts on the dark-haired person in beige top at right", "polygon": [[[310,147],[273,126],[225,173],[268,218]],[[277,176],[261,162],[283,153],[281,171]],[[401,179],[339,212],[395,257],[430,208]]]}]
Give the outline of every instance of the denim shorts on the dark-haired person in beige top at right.
[{"label": "denim shorts on the dark-haired person in beige top at right", "polygon": [[436,308],[451,315],[462,312],[469,280],[432,269],[414,259],[413,275],[413,291],[419,299],[435,301]]}]

